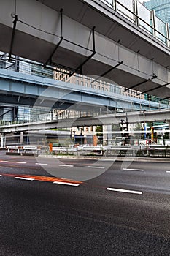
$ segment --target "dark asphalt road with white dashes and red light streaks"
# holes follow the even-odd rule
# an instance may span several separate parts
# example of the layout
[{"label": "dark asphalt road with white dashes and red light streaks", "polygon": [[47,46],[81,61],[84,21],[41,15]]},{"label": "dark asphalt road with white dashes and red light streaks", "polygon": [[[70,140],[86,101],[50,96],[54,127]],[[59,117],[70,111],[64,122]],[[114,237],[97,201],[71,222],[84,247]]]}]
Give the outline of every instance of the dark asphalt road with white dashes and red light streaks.
[{"label": "dark asphalt road with white dashes and red light streaks", "polygon": [[1,152],[0,255],[170,255],[169,171]]}]

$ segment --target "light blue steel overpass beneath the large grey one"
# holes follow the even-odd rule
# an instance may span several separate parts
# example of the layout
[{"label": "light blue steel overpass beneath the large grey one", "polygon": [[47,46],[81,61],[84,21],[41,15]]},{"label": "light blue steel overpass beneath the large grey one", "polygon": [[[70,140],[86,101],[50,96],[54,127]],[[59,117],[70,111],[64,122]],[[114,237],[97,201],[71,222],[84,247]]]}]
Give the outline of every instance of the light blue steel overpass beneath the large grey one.
[{"label": "light blue steel overpass beneath the large grey one", "polygon": [[66,83],[36,75],[0,69],[0,102],[13,105],[42,106],[99,113],[166,108],[166,105],[144,99],[125,97],[109,91]]}]

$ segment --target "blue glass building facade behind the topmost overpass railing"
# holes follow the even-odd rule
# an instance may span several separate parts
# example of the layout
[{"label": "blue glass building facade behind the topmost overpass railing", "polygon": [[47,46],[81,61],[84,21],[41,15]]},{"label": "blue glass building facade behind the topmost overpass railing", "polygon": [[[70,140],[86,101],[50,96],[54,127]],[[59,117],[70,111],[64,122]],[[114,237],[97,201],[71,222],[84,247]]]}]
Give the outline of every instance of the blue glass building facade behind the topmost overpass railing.
[{"label": "blue glass building facade behind the topmost overpass railing", "polygon": [[170,1],[169,0],[150,0],[144,2],[144,6],[149,10],[154,10],[155,15],[163,20],[165,23],[169,23],[170,26]]}]

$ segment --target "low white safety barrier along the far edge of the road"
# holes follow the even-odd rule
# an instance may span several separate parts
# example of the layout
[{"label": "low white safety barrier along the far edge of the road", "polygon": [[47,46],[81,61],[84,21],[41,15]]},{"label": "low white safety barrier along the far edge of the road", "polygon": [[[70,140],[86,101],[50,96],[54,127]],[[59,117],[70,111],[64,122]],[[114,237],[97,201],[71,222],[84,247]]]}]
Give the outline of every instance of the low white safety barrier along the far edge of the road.
[{"label": "low white safety barrier along the far edge of the road", "polygon": [[88,155],[88,156],[126,156],[126,157],[170,157],[170,147],[162,145],[137,146],[73,146],[53,147],[52,151],[43,146],[7,146],[7,154],[36,155]]}]

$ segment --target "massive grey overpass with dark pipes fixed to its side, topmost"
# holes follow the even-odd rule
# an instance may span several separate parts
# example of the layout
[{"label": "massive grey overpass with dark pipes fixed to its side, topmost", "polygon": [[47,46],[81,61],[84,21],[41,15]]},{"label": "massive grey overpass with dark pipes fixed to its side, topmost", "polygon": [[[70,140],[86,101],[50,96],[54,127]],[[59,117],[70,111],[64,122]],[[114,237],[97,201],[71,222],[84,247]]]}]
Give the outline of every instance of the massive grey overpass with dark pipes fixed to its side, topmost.
[{"label": "massive grey overpass with dark pipes fixed to its side, topmost", "polygon": [[169,98],[169,38],[137,25],[99,0],[6,0],[0,50]]}]

